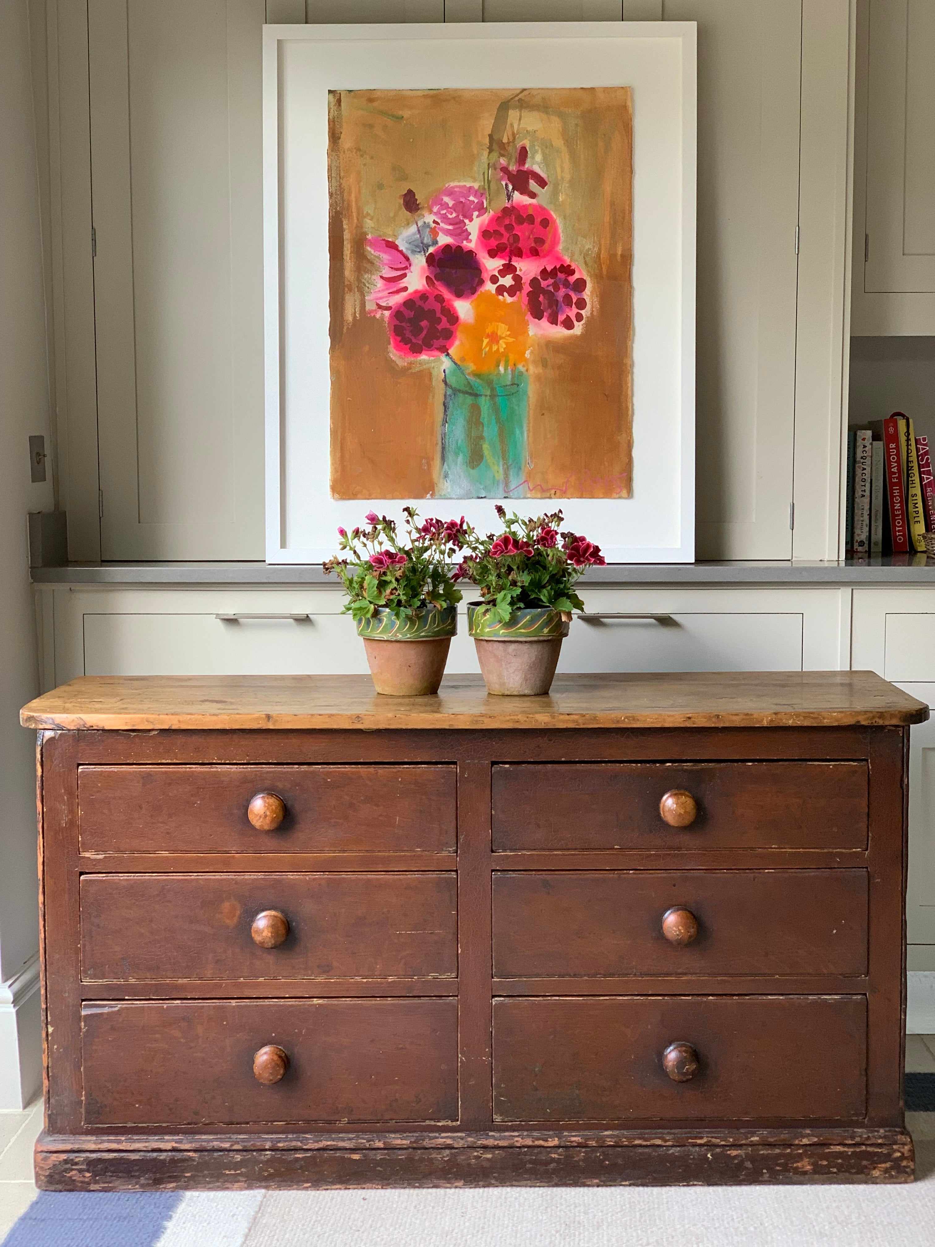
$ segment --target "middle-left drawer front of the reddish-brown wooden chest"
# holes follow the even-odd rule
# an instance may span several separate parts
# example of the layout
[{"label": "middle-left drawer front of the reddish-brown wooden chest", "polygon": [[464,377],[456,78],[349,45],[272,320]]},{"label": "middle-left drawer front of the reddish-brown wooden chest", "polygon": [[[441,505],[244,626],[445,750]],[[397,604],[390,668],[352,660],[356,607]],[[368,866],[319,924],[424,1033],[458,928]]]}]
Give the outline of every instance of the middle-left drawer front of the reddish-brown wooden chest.
[{"label": "middle-left drawer front of the reddish-brown wooden chest", "polygon": [[[86,983],[458,974],[455,874],[86,874]],[[256,925],[273,910],[285,919]],[[282,939],[263,946],[269,936]]]}]

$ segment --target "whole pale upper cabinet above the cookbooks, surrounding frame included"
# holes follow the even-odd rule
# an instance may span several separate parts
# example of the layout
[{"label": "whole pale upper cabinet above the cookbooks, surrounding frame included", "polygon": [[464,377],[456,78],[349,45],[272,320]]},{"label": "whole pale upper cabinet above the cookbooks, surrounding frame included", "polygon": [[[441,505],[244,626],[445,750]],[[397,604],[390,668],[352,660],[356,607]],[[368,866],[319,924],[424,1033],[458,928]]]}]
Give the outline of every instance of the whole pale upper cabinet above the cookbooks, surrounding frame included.
[{"label": "whole pale upper cabinet above the cookbooks, surrounding frame included", "polygon": [[859,0],[854,334],[935,334],[933,66],[933,0]]}]

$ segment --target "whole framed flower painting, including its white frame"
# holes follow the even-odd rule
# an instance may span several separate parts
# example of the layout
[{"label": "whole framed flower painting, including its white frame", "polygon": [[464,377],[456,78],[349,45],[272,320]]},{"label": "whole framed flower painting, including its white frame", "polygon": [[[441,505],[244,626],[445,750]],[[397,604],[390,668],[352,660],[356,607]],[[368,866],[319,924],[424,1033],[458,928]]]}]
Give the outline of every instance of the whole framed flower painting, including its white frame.
[{"label": "whole framed flower painting, including its white frame", "polygon": [[691,561],[682,22],[264,32],[267,559],[404,505]]}]

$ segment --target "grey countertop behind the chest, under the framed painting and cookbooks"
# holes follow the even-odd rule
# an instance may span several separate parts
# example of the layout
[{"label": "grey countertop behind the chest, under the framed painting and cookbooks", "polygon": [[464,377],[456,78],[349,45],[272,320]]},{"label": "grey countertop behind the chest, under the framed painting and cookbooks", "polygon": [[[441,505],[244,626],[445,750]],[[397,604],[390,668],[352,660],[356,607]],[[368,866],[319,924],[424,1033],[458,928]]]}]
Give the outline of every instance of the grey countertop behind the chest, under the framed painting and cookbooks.
[{"label": "grey countertop behind the chest, under the framed painting and cookbooks", "polygon": [[[40,585],[315,585],[339,589],[320,566],[267,562],[72,562],[34,567]],[[935,560],[924,554],[844,562],[733,561],[611,564],[592,567],[585,586],[628,585],[931,585]]]}]

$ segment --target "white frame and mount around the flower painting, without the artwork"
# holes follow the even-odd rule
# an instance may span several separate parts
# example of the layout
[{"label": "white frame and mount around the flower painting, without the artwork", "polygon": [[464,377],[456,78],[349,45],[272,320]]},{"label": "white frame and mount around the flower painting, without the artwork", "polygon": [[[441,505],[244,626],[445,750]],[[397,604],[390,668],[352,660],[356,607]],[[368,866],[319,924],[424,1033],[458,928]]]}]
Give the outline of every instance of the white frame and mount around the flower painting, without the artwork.
[{"label": "white frame and mount around the flower painting, without the artwork", "polygon": [[[497,69],[507,60],[530,69]],[[328,91],[475,86],[633,89],[632,496],[506,505],[561,506],[608,562],[692,562],[697,41],[677,21],[264,27],[267,561],[320,562],[338,525],[406,505],[329,493]],[[496,525],[492,499],[409,501]]]}]

